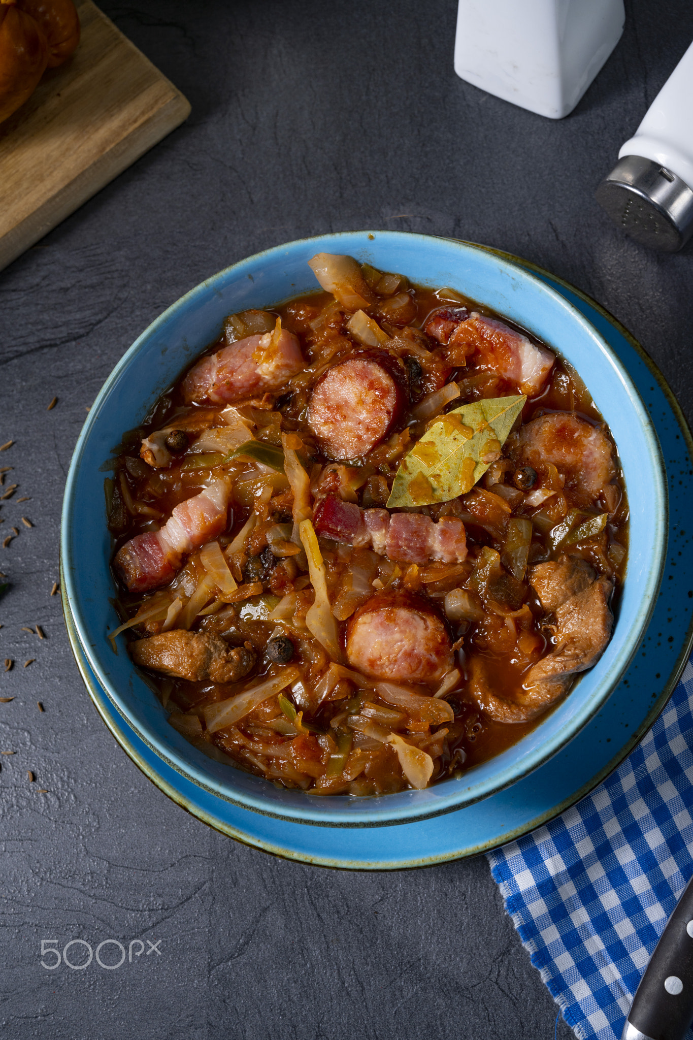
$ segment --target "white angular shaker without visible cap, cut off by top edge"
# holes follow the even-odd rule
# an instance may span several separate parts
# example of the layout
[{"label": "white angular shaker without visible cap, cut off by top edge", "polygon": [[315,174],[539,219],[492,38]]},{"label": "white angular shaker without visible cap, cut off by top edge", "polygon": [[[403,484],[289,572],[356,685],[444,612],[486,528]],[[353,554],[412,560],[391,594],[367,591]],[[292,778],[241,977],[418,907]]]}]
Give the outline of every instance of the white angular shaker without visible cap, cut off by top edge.
[{"label": "white angular shaker without visible cap, cut off by top edge", "polygon": [[623,0],[459,0],[455,72],[560,120],[602,69],[624,21]]}]

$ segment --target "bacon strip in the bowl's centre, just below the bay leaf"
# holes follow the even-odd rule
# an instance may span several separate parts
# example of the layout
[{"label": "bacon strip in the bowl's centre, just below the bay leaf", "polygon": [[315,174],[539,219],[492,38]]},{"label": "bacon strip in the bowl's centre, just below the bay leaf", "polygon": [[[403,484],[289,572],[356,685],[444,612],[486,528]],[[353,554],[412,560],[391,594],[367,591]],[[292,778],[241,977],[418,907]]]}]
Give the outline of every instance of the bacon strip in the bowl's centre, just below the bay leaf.
[{"label": "bacon strip in the bowl's centre, just below the bay leaf", "polygon": [[370,546],[399,563],[461,564],[467,557],[464,525],[457,517],[442,517],[434,523],[423,514],[362,510],[327,495],[315,508],[313,525],[319,535],[354,548]]}]

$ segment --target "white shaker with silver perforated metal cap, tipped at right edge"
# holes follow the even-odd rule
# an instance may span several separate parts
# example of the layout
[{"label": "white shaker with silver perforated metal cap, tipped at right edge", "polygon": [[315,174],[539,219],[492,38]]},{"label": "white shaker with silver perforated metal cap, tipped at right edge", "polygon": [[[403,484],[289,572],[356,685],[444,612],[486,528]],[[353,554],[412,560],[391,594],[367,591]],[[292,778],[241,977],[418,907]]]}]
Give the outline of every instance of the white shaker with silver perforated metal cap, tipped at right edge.
[{"label": "white shaker with silver perforated metal cap, tipped at right edge", "polygon": [[693,44],[618,158],[597,202],[632,238],[675,253],[693,235]]}]

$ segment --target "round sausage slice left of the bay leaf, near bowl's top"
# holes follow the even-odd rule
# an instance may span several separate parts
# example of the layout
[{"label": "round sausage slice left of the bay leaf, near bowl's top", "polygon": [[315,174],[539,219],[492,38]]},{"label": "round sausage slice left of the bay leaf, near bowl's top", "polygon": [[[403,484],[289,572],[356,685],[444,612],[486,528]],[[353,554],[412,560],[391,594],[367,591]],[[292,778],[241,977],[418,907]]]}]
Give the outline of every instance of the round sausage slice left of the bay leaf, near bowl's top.
[{"label": "round sausage slice left of the bay leaf, near bowl's top", "polygon": [[328,369],[316,383],[308,424],[328,459],[357,459],[387,437],[406,400],[399,359],[362,354]]}]

